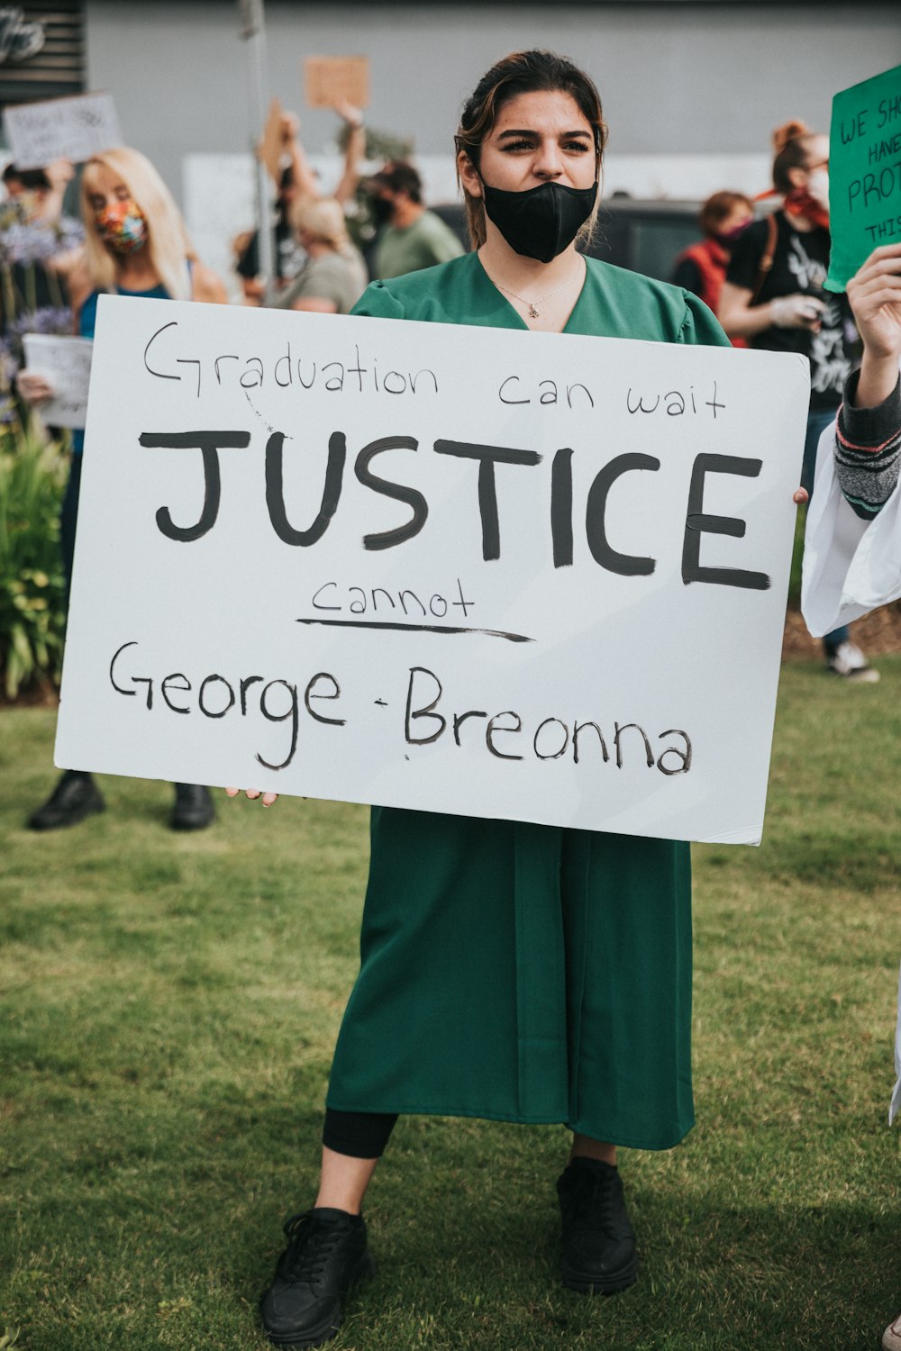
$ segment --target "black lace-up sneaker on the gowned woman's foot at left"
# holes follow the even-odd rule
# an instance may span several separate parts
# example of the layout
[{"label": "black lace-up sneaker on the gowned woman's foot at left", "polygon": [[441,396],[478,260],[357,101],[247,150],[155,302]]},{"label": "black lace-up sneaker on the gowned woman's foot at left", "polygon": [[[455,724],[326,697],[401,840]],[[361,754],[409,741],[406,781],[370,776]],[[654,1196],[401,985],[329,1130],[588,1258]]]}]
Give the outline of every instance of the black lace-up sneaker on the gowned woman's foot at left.
[{"label": "black lace-up sneaker on the gowned woman's foot at left", "polygon": [[320,1347],[340,1327],[342,1297],[376,1269],[366,1223],[362,1215],[320,1206],[294,1215],[285,1233],[288,1247],[259,1306],[263,1329],[280,1347]]}]

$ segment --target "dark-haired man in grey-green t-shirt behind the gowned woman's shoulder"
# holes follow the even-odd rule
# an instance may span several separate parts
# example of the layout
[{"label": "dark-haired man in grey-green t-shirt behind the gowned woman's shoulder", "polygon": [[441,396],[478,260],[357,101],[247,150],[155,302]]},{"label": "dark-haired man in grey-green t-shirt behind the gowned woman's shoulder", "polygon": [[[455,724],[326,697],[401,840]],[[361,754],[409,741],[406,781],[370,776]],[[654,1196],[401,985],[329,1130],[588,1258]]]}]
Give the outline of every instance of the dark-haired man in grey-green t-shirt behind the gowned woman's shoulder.
[{"label": "dark-haired man in grey-green t-shirt behind the gowned woman's shoulder", "polygon": [[450,226],[423,204],[423,180],[405,159],[389,161],[366,186],[378,227],[371,251],[373,277],[385,281],[450,262],[463,253]]}]

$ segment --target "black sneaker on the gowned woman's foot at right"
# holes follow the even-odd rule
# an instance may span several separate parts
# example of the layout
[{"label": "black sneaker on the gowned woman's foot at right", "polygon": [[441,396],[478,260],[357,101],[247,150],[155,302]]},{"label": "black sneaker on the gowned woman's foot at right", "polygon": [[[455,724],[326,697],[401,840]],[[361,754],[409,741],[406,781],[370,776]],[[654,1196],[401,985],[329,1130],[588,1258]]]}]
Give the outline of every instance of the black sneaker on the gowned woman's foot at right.
[{"label": "black sneaker on the gowned woman's foot at right", "polygon": [[615,1294],[635,1282],[635,1233],[612,1163],[574,1158],[558,1178],[563,1217],[563,1285]]}]

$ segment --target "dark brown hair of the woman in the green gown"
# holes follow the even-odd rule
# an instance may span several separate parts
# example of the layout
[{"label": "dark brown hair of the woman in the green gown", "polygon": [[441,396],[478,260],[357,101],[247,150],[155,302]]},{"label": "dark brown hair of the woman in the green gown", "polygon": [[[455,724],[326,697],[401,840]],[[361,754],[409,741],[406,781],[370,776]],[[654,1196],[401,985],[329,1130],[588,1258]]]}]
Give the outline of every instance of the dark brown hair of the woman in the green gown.
[{"label": "dark brown hair of the woman in the green gown", "polygon": [[[590,76],[554,51],[513,51],[482,76],[463,104],[459,127],[454,136],[457,151],[469,155],[474,168],[478,169],[482,142],[490,134],[504,104],[521,93],[535,93],[536,91],[567,93],[573,99],[594,131],[594,166],[596,177],[600,177],[604,146],[607,145],[607,123],[601,109],[601,96]],[[459,165],[457,181],[461,181]],[[470,197],[465,188],[463,199],[473,249],[478,249],[485,243],[485,207],[481,199]],[[594,228],[597,207],[598,203],[594,204],[594,211],[582,226],[581,239],[588,238]]]}]

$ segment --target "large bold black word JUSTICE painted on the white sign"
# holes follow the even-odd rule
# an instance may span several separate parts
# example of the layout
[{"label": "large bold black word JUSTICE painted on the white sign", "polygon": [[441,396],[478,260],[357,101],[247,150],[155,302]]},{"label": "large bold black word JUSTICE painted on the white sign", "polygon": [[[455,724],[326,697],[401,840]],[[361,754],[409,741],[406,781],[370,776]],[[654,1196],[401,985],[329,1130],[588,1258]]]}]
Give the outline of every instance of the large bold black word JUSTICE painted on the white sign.
[{"label": "large bold black word JUSTICE painted on the white sign", "polygon": [[[185,432],[142,432],[139,444],[147,450],[199,450],[204,467],[204,500],[200,516],[193,524],[180,526],[172,517],[168,507],[159,507],[155,521],[159,531],[178,543],[192,543],[207,535],[219,516],[222,500],[222,473],[219,453],[223,450],[246,450],[250,446],[247,431],[185,431]],[[309,549],[323,538],[338,511],[344,484],[347,461],[347,438],[335,431],[328,439],[328,458],[323,492],[315,519],[309,524],[297,526],[288,515],[284,490],[284,450],[285,432],[273,431],[266,440],[265,453],[265,496],[269,520],[278,539],[285,544]],[[382,436],[369,442],[354,459],[357,481],[370,492],[392,499],[408,508],[409,516],[393,530],[363,535],[365,550],[394,549],[413,539],[428,519],[428,503],[421,492],[407,484],[376,474],[371,465],[380,455],[390,451],[417,451],[415,436]],[[496,470],[498,466],[516,466],[532,470],[542,463],[543,457],[534,450],[511,449],[508,446],[482,446],[474,442],[436,440],[432,444],[436,455],[471,461],[478,466],[475,476],[477,503],[481,519],[482,558],[485,562],[501,557],[501,532],[497,507]],[[731,535],[744,538],[746,521],[736,516],[716,516],[704,511],[705,480],[712,474],[756,478],[762,461],[738,455],[701,453],[694,457],[685,507],[685,532],[682,544],[682,581],[706,582],[719,586],[739,586],[751,590],[766,590],[770,578],[766,573],[742,567],[702,566],[700,562],[702,535]],[[615,550],[607,538],[607,507],[613,485],[625,474],[658,473],[661,461],[654,455],[629,451],[615,455],[594,476],[585,501],[585,536],[592,557],[598,566],[623,577],[647,577],[657,567],[657,559]],[[569,567],[573,563],[573,450],[563,447],[555,451],[550,471],[550,527],[554,567]],[[640,523],[639,523],[640,527]]]}]

